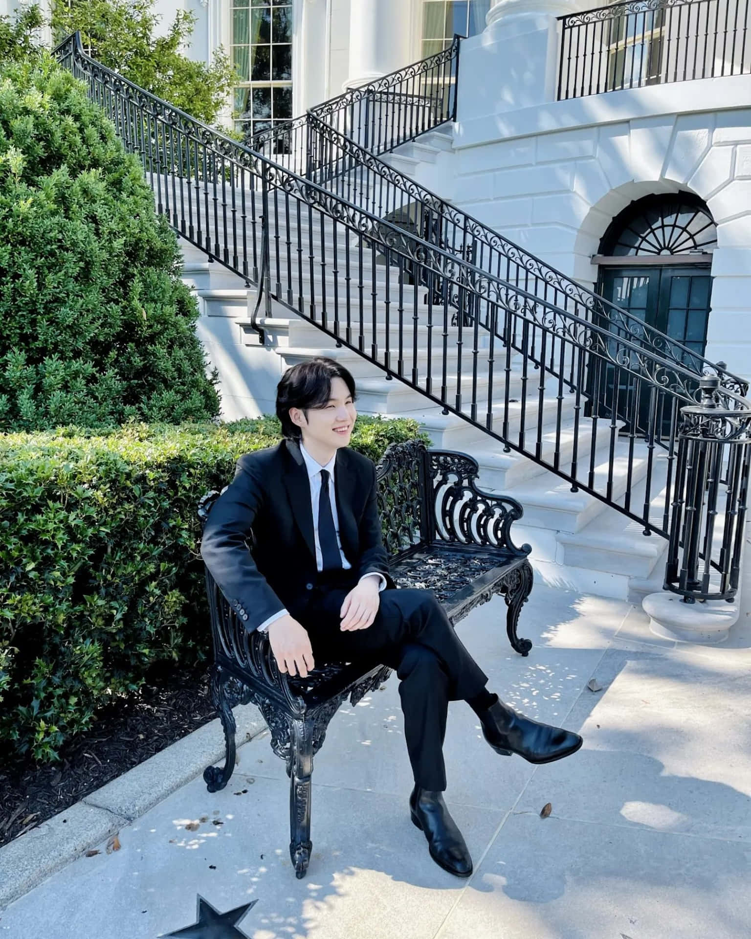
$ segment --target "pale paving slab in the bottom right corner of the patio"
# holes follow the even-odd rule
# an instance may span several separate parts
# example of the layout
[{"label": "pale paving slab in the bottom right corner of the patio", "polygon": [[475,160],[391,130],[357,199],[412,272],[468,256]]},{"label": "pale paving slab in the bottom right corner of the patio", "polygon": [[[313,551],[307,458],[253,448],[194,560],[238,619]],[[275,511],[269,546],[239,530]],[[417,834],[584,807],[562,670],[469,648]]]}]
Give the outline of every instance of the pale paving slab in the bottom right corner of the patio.
[{"label": "pale paving slab in the bottom right corner of the patio", "polygon": [[750,877],[742,843],[517,814],[436,939],[747,939]]}]

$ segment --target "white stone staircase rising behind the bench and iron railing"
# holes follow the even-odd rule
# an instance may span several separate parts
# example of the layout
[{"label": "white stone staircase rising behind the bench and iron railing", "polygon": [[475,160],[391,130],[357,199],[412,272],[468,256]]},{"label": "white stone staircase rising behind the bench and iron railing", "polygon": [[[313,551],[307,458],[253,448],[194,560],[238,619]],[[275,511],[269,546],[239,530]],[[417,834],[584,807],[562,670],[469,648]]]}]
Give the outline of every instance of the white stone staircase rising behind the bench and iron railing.
[{"label": "white stone staircase rising behind the bench and iron railing", "polygon": [[[444,137],[444,134],[426,136]],[[415,145],[409,145],[415,146]],[[441,145],[443,146],[443,145]],[[411,158],[410,158],[411,159]],[[282,233],[284,236],[284,232]],[[305,237],[307,233],[305,232]],[[333,246],[330,233],[326,236],[328,248]],[[346,236],[340,232],[337,243],[343,245]],[[257,416],[273,413],[276,385],[284,370],[297,362],[314,355],[328,355],[345,366],[356,377],[358,383],[357,406],[360,413],[383,414],[388,417],[412,417],[418,420],[430,434],[434,446],[461,450],[477,459],[480,469],[480,485],[491,492],[503,492],[518,499],[524,506],[524,518],[514,524],[514,537],[517,543],[529,542],[532,546],[530,560],[538,577],[561,587],[570,587],[578,591],[587,591],[605,596],[637,599],[639,593],[653,589],[654,578],[660,579],[662,586],[663,555],[667,547],[664,539],[656,535],[645,537],[641,526],[627,516],[605,505],[588,493],[579,490],[572,493],[571,485],[558,475],[544,469],[528,457],[513,451],[504,453],[503,444],[485,434],[483,430],[455,414],[443,414],[442,408],[434,405],[424,395],[409,388],[398,379],[388,379],[384,372],[360,356],[359,352],[346,346],[336,346],[336,342],[324,331],[291,313],[281,304],[273,304],[271,316],[259,316],[257,325],[265,331],[266,341],[259,343],[257,331],[251,327],[251,313],[255,304],[254,288],[246,288],[241,278],[222,267],[217,262],[208,262],[206,254],[181,241],[185,265],[183,277],[186,283],[195,288],[201,306],[198,333],[207,349],[211,365],[216,365],[221,377],[222,418],[236,420],[239,417]],[[354,242],[353,242],[354,243]],[[363,259],[365,277],[363,281],[370,289],[370,258]],[[327,294],[333,292],[333,275],[327,271]],[[375,303],[375,336],[378,348],[382,350],[387,337],[385,305],[385,269],[377,269],[375,274],[377,298]],[[390,272],[391,298],[398,292],[398,277]],[[304,292],[310,284],[307,271],[303,271]],[[320,284],[315,283],[316,290]],[[297,292],[299,285],[295,285]],[[344,307],[345,285],[341,278],[338,284],[340,308]],[[357,309],[359,291],[357,285],[350,286],[353,310]],[[417,316],[421,330],[420,346],[417,355],[418,374],[421,379],[426,374],[427,349],[427,307],[422,303],[425,288],[418,290],[418,304],[415,307],[414,288],[405,287],[403,307],[405,322],[411,323],[412,316]],[[263,311],[263,303],[261,310]],[[330,314],[331,316],[331,314]],[[359,318],[356,316],[356,327]],[[343,328],[343,326],[342,326]],[[424,330],[424,331],[423,331]],[[449,355],[447,357],[450,373],[447,385],[450,393],[456,391],[456,378],[451,377],[451,368],[455,366],[456,353],[451,352],[452,336],[455,341],[455,328],[449,330]],[[392,349],[396,349],[396,316],[392,312],[389,337]],[[357,328],[355,330],[357,336]],[[373,332],[373,309],[371,297],[367,296],[366,316],[363,322],[363,348],[370,349]],[[357,339],[354,340],[357,342]],[[440,330],[434,331],[433,349],[435,363],[440,362],[442,338]],[[478,371],[478,401],[486,402],[487,381],[482,379],[482,356],[487,354],[489,337],[481,337],[481,366]],[[411,376],[412,347],[405,349],[405,376]],[[505,382],[504,372],[498,367],[498,358],[505,360],[505,350],[496,349],[497,365],[495,371],[495,393],[492,398],[494,426],[500,429],[504,412]],[[509,378],[508,421],[512,435],[518,433],[522,418],[521,380],[522,364],[520,357],[511,358]],[[395,366],[395,358],[391,367]],[[539,372],[533,373],[531,366],[528,376],[528,400],[524,420],[528,428],[527,442],[533,444],[537,437],[537,383]],[[549,389],[545,391],[544,419],[540,428],[542,455],[552,459],[557,437],[561,466],[570,460],[574,448],[574,413],[575,397],[564,394],[561,401],[561,425],[556,432],[555,397],[557,389],[552,377]],[[437,379],[440,380],[439,378]],[[462,378],[462,393],[465,406],[471,396],[472,377]],[[484,420],[486,404],[478,408],[478,419]],[[512,439],[515,439],[512,436]],[[580,466],[589,465],[591,455],[591,422],[579,417],[578,456]],[[597,448],[593,455],[595,479],[604,481],[609,465],[609,434],[602,428],[597,439]],[[636,511],[640,512],[644,501],[643,478],[647,469],[647,450],[636,444],[637,458],[633,463],[630,479],[626,475],[624,459],[627,442],[616,440],[614,473],[612,478],[613,496],[623,500],[626,490],[631,492]],[[641,449],[640,449],[641,448]],[[643,452],[642,452],[643,450]],[[661,457],[657,457],[659,460]],[[659,480],[659,472],[656,474]],[[654,485],[654,484],[653,484]],[[652,500],[654,516],[660,516],[662,505]],[[658,587],[658,589],[659,589]]]}]

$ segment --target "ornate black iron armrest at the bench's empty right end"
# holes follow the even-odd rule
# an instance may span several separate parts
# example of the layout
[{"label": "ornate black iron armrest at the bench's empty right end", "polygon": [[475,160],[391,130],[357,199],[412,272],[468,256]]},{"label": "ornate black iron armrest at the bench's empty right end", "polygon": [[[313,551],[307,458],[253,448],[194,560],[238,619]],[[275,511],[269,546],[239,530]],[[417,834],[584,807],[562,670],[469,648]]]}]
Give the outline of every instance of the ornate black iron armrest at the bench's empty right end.
[{"label": "ornate black iron armrest at the bench's empty right end", "polygon": [[428,475],[435,511],[434,537],[461,545],[502,548],[507,555],[527,557],[529,545],[516,546],[512,523],[524,515],[521,503],[510,496],[483,492],[475,480],[477,460],[454,450],[429,450]]}]

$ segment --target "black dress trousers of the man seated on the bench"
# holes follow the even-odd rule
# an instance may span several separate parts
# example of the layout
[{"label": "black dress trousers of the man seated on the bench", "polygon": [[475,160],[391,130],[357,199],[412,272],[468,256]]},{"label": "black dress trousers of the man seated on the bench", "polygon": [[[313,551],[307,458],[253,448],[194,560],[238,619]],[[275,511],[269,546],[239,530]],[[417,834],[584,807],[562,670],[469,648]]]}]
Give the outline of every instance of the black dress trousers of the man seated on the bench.
[{"label": "black dress trousers of the man seated on the bench", "polygon": [[361,659],[396,671],[415,783],[443,792],[449,701],[481,694],[487,676],[467,652],[432,591],[381,591],[373,623],[367,629],[342,631],[340,609],[354,586],[347,573],[319,575],[313,590],[290,613],[308,632],[316,666]]}]

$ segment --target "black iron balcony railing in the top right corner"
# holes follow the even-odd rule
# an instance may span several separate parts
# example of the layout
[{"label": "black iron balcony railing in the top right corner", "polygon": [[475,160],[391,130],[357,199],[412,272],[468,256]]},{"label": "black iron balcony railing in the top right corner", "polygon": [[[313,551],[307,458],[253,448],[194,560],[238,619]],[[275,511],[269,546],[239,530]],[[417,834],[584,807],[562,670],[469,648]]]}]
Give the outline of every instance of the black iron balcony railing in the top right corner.
[{"label": "black iron balcony railing in the top right corner", "polygon": [[633,0],[559,17],[559,100],[751,72],[749,0]]}]

